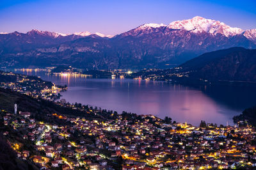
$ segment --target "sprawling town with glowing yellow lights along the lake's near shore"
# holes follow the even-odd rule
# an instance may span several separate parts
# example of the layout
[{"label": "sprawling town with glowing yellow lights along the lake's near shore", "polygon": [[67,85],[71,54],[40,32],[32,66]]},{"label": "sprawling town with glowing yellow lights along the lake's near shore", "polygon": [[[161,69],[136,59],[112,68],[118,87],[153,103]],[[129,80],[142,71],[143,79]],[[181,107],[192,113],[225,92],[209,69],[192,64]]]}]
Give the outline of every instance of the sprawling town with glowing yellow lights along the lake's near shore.
[{"label": "sprawling town with glowing yellow lights along the lake's near shore", "polygon": [[38,169],[256,167],[255,128],[246,121],[226,127],[201,121],[196,127],[168,117],[163,120],[152,115],[118,114],[88,105],[69,104],[64,99],[53,101],[45,97],[45,91],[54,93],[56,89],[45,86],[46,82],[41,79],[33,81],[35,77],[14,73],[1,75],[5,79],[15,76],[16,80],[3,81],[1,89],[28,95],[29,100],[35,102],[45,100],[49,102],[43,103],[47,106],[74,111],[74,114],[65,114],[66,110],[60,113],[40,109],[41,114],[37,114],[21,104],[8,106],[13,112],[0,108],[0,133],[4,141],[15,151],[17,159]]}]

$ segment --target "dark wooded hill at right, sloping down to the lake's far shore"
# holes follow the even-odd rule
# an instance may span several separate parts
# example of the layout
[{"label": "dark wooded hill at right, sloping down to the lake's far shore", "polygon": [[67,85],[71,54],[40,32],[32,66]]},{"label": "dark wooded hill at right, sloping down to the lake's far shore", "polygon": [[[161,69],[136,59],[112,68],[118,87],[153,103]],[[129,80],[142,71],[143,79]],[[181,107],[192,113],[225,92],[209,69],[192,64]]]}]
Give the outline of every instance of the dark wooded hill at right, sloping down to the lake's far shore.
[{"label": "dark wooded hill at right, sloping down to the lake's far shore", "polygon": [[256,50],[236,47],[209,52],[180,67],[193,79],[256,82]]}]

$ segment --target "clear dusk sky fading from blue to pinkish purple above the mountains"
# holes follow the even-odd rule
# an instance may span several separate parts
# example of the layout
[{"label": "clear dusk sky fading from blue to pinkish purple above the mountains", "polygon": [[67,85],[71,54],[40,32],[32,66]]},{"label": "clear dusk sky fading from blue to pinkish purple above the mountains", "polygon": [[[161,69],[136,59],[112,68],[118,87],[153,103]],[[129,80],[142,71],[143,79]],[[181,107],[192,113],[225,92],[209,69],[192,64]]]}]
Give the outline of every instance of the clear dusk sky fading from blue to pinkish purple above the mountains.
[{"label": "clear dusk sky fading from blue to pinkish purple above the mountains", "polygon": [[145,23],[169,24],[195,16],[252,29],[256,28],[256,1],[8,0],[0,5],[0,32],[38,29],[116,35]]}]

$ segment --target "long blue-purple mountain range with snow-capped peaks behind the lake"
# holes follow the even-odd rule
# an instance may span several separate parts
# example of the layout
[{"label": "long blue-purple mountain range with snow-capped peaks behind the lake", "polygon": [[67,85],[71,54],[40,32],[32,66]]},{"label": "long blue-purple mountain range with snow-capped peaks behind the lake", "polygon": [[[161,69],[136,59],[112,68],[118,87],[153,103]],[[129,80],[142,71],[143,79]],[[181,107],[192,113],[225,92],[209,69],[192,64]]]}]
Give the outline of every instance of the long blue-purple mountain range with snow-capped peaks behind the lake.
[{"label": "long blue-purple mountain range with snow-capped peaks behind the lake", "polygon": [[162,68],[176,66],[205,52],[256,47],[256,29],[193,17],[164,24],[143,24],[125,33],[61,34],[32,30],[0,33],[0,66],[79,68]]}]

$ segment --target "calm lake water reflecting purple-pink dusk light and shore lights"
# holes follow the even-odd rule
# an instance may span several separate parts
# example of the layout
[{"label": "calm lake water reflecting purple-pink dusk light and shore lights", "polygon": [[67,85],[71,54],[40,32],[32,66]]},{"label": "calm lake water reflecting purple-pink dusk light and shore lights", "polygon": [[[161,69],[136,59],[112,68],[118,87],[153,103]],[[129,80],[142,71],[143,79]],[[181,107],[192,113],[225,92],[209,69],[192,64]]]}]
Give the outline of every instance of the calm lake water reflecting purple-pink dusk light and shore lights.
[{"label": "calm lake water reflecting purple-pink dusk light and shore lights", "polygon": [[232,125],[232,117],[256,105],[256,89],[230,86],[182,86],[166,82],[133,79],[90,79],[46,75],[45,72],[19,72],[40,76],[55,84],[67,84],[61,98],[121,113],[168,116],[178,122]]}]

